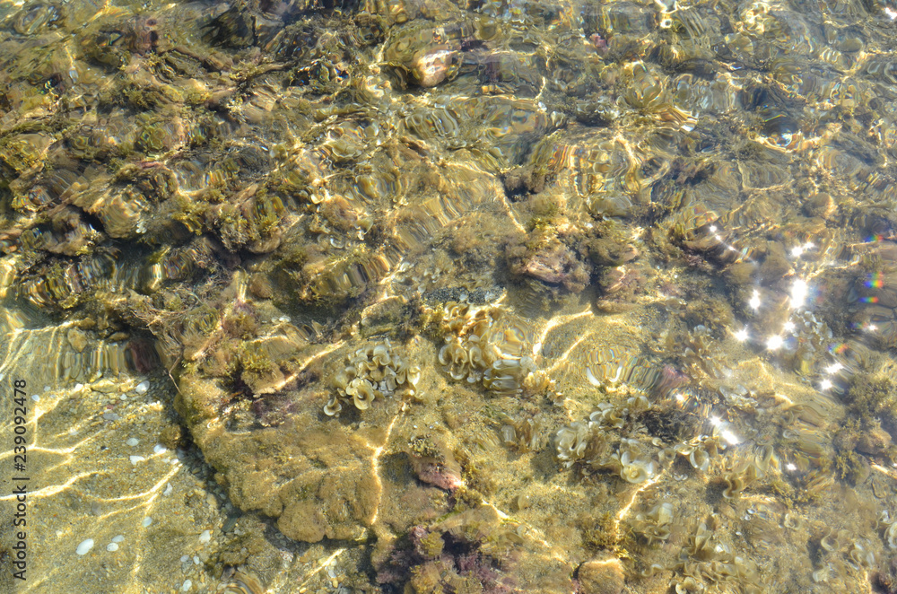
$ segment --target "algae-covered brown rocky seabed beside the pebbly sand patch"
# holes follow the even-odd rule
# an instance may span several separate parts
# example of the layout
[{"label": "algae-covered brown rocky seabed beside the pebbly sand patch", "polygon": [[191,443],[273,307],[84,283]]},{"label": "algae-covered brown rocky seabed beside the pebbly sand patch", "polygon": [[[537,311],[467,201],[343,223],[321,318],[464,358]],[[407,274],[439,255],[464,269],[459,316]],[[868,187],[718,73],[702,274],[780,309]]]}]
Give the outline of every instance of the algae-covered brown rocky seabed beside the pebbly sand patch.
[{"label": "algae-covered brown rocky seabed beside the pebbly sand patch", "polygon": [[365,592],[897,591],[894,26],[27,2],[0,294],[177,382],[227,591],[266,529]]}]

